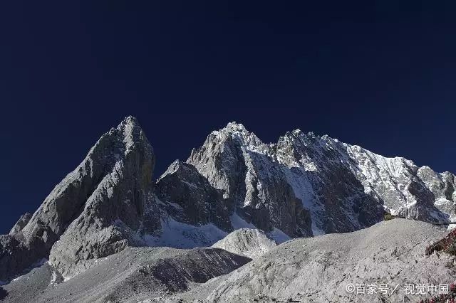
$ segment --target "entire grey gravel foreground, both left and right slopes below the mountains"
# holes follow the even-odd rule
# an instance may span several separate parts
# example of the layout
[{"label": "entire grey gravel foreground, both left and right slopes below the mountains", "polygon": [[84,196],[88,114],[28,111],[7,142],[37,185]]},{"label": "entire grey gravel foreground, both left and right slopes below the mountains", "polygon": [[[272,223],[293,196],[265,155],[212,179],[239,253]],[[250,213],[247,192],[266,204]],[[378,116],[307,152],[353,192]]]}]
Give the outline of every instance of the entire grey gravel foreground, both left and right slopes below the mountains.
[{"label": "entire grey gravel foreground, both left and right slopes below the mountains", "polygon": [[[251,262],[218,248],[127,248],[58,285],[45,264],[3,288],[6,302],[417,302],[427,295],[406,295],[405,285],[456,280],[450,257],[425,255],[446,234],[395,219],[289,240]],[[348,294],[349,283],[385,284],[388,294]]]}]

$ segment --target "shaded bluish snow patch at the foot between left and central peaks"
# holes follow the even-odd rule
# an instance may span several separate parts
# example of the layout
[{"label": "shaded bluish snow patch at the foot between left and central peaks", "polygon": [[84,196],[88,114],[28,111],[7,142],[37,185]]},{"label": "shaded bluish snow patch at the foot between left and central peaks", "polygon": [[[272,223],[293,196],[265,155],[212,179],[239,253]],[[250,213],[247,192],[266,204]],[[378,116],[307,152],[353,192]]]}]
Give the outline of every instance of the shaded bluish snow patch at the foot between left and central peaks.
[{"label": "shaded bluish snow patch at the foot between left and central peaks", "polygon": [[197,248],[210,246],[227,234],[214,224],[195,226],[168,217],[162,219],[160,235],[145,235],[144,240],[153,247]]}]

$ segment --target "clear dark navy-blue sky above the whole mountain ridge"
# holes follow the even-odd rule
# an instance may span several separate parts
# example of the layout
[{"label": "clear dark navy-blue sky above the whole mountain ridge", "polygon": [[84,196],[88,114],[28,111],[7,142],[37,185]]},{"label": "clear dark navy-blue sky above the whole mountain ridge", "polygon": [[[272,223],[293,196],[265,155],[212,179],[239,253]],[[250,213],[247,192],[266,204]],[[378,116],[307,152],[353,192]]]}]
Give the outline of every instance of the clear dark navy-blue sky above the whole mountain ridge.
[{"label": "clear dark navy-blue sky above the whole mountain ridge", "polygon": [[128,2],[1,4],[0,232],[126,115],[156,176],[232,120],[456,171],[450,1]]}]

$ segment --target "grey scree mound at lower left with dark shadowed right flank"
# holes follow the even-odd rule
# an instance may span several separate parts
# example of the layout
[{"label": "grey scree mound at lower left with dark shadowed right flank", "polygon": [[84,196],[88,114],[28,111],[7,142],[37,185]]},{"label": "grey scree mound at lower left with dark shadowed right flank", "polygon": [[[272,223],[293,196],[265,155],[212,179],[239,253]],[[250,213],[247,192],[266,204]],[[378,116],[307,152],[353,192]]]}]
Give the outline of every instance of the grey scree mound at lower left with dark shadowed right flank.
[{"label": "grey scree mound at lower left with dark shadowed right flank", "polygon": [[127,248],[63,283],[45,264],[5,286],[6,302],[138,302],[185,292],[250,259],[218,248]]}]

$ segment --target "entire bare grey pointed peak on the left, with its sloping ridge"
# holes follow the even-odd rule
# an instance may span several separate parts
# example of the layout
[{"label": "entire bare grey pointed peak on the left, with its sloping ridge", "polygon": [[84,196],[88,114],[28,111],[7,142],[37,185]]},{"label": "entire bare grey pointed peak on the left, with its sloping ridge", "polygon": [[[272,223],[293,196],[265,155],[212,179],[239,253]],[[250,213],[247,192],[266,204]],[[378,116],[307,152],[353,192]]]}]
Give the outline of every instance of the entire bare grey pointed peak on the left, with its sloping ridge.
[{"label": "entire bare grey pointed peak on the left, with its sloping ridge", "polygon": [[1,236],[0,264],[7,266],[0,267],[0,280],[43,257],[73,275],[86,260],[138,244],[137,234],[160,228],[151,193],[154,163],[135,118],[104,134],[23,228],[21,218],[11,235]]}]

